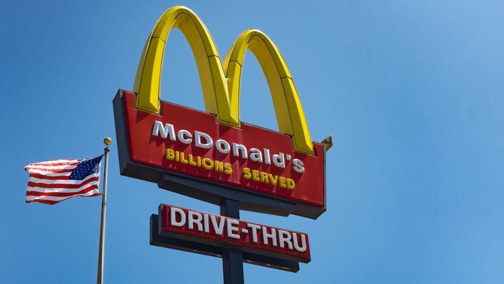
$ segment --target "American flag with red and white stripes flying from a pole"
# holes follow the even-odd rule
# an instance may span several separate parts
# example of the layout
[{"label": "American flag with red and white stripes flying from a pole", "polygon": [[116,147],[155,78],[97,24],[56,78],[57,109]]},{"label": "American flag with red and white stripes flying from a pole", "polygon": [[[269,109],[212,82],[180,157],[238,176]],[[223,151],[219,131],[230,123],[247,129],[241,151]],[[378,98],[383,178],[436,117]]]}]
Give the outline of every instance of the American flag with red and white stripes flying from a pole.
[{"label": "American flag with red and white stripes flying from a pole", "polygon": [[60,159],[31,163],[26,203],[56,204],[78,196],[98,196],[103,155],[86,159]]}]

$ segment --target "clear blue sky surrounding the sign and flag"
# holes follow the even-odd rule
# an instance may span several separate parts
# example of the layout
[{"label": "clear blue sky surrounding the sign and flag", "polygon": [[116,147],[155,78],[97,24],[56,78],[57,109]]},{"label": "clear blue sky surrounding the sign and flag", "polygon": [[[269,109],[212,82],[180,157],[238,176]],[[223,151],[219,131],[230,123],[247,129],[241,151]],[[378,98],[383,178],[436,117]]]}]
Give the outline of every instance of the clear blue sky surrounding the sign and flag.
[{"label": "clear blue sky surrounding the sign and flag", "polygon": [[[145,40],[176,5],[200,16],[222,56],[243,30],[264,31],[290,68],[312,139],[335,137],[321,217],[241,212],[308,233],[312,261],[298,273],[245,264],[247,283],[504,282],[501,1],[3,1],[1,281],[95,281],[101,198],[26,204],[23,166],[99,155],[107,136],[104,280],[222,281],[218,258],[149,245],[159,203],[214,214],[218,206],[118,171],[112,98],[132,89]],[[242,121],[276,130],[250,52],[241,90]],[[203,109],[178,30],[161,98]]]}]

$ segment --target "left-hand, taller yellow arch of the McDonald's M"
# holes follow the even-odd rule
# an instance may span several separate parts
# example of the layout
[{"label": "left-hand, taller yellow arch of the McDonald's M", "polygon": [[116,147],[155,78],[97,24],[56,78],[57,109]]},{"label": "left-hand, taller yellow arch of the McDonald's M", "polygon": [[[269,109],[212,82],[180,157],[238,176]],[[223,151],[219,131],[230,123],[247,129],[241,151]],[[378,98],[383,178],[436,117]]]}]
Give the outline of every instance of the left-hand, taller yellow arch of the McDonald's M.
[{"label": "left-hand, taller yellow arch of the McDonald's M", "polygon": [[178,28],[187,39],[200,74],[205,109],[220,123],[238,125],[229,115],[227,84],[219,52],[207,27],[196,14],[182,6],[168,9],[157,21],[145,43],[133,92],[138,109],[158,113],[163,54],[168,34]]}]

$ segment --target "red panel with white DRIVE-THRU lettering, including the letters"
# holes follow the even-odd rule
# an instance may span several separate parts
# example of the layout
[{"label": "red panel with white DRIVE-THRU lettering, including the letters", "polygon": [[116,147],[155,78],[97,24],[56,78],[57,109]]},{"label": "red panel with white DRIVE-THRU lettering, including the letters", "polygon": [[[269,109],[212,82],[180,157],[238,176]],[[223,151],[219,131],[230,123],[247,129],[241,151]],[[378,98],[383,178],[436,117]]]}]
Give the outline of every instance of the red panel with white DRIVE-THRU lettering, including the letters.
[{"label": "red panel with white DRIVE-THRU lettering, including the letters", "polygon": [[308,263],[310,248],[304,233],[250,223],[219,215],[161,204],[160,234]]}]

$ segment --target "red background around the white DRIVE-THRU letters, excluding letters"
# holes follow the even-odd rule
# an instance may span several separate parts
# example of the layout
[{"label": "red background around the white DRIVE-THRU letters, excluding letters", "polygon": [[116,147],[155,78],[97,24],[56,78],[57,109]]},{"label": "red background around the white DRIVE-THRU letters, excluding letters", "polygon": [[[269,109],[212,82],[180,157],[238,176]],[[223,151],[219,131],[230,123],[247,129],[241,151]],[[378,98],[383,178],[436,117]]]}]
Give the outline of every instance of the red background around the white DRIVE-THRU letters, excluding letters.
[{"label": "red background around the white DRIVE-THRU letters, excluding letters", "polygon": [[[238,228],[238,232],[233,232],[233,234],[236,234],[236,235],[239,234],[240,235],[240,239],[235,239],[235,238],[227,237],[227,221],[224,223],[224,230],[223,230],[222,235],[215,234],[215,231],[213,229],[213,226],[212,226],[211,222],[210,222],[210,225],[209,225],[209,228],[210,228],[209,233],[198,231],[197,230],[198,227],[196,225],[194,226],[193,230],[190,230],[188,228],[188,225],[187,225],[187,219],[186,219],[185,224],[183,226],[181,226],[181,227],[172,226],[170,224],[170,208],[171,207],[175,207],[175,208],[181,209],[182,211],[184,211],[185,215],[187,216],[188,209],[163,204],[162,205],[162,211],[160,212],[160,216],[162,217],[162,223],[161,224],[162,224],[162,230],[164,230],[164,231],[172,232],[172,233],[179,233],[179,234],[184,234],[184,235],[190,235],[190,236],[195,236],[195,237],[199,237],[199,238],[211,239],[211,240],[215,240],[215,241],[219,241],[219,242],[232,243],[232,244],[236,244],[236,245],[241,245],[241,246],[246,246],[246,247],[252,247],[252,248],[261,249],[261,250],[267,250],[267,251],[271,251],[271,252],[275,252],[275,253],[288,254],[288,255],[292,255],[292,256],[295,256],[295,257],[302,258],[302,259],[306,259],[307,260],[306,263],[309,262],[309,260],[311,259],[311,256],[310,256],[310,246],[309,246],[308,235],[307,234],[299,233],[299,232],[295,232],[295,231],[290,231],[290,230],[285,230],[285,229],[279,229],[279,228],[270,227],[270,226],[261,225],[261,224],[256,224],[256,223],[251,223],[251,222],[246,222],[246,221],[243,221],[243,220],[237,220],[237,221],[239,221],[239,224],[237,226],[234,225],[233,227],[234,228]],[[203,216],[203,214],[208,214],[208,213],[199,212],[199,211],[195,211],[195,210],[189,210],[189,211],[198,212],[202,216]],[[178,215],[179,214],[177,213],[176,214],[176,216],[177,216],[176,221],[180,221],[180,218],[178,218]],[[210,216],[210,215],[213,215],[213,214],[208,214],[208,215]],[[232,219],[232,218],[223,217],[223,216],[219,216],[219,215],[214,215],[214,216],[216,216],[217,224],[220,223],[220,218]],[[210,217],[209,217],[209,220],[210,220]],[[236,220],[236,219],[233,219],[233,220]],[[256,224],[256,225],[260,225],[260,226],[265,226],[267,228],[267,230],[266,230],[267,233],[271,233],[271,229],[274,228],[276,230],[277,246],[276,247],[273,246],[273,243],[272,243],[271,239],[268,240],[268,245],[263,244],[263,237],[262,237],[262,231],[261,230],[257,231],[257,233],[258,233],[258,243],[254,243],[252,241],[252,233],[251,233],[252,229],[251,228],[247,228],[247,223],[249,223],[249,224]],[[242,233],[241,229],[247,229],[248,233],[247,234]],[[306,251],[299,252],[295,248],[293,248],[291,250],[291,249],[289,249],[287,247],[287,244],[285,244],[284,248],[281,248],[279,246],[280,244],[278,243],[278,230],[287,231],[287,232],[291,233],[291,236],[292,236],[292,233],[296,233],[297,234],[297,240],[298,240],[299,246],[301,246],[300,235],[301,234],[305,235],[305,237],[306,237]],[[292,240],[292,242],[293,242],[293,240]]]}]

